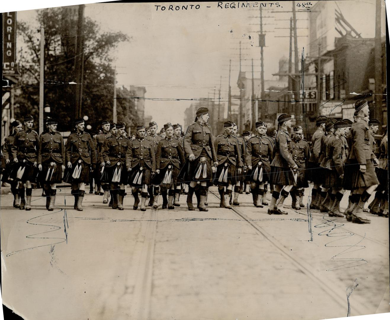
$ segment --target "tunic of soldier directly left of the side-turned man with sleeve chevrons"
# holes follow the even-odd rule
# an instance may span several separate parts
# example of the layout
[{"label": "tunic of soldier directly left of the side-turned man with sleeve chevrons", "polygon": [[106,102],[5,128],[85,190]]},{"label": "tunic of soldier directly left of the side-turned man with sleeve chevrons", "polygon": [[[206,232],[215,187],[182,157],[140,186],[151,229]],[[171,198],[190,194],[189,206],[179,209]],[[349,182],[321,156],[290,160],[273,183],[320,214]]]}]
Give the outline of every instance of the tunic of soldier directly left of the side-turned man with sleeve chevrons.
[{"label": "tunic of soldier directly left of the side-turned man with sleeve chevrons", "polygon": [[255,135],[246,142],[246,165],[254,167],[259,161],[269,164],[272,155],[273,146],[266,136]]}]

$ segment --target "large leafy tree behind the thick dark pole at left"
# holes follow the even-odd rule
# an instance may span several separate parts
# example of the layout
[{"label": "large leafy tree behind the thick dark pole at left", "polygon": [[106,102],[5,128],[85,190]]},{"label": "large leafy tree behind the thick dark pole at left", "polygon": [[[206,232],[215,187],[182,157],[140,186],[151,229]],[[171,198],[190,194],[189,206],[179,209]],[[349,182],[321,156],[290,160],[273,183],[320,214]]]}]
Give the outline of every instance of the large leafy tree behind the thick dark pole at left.
[{"label": "large leafy tree behind the thick dark pole at left", "polygon": [[[37,10],[37,21],[45,30],[44,45],[44,104],[50,105],[50,116],[58,120],[58,131],[72,127],[74,117],[75,86],[74,68],[76,54],[77,6]],[[22,77],[15,103],[16,116],[23,118],[39,115],[39,57],[40,39],[37,30],[27,22],[18,22],[18,34],[26,44],[18,52]],[[129,36],[122,32],[101,32],[90,18],[84,20],[83,55],[83,114],[89,117],[88,124],[94,130],[103,119],[112,119],[114,70],[110,52]],[[122,115],[122,112],[128,114]],[[134,119],[136,112],[128,105],[119,108],[119,119]]]}]

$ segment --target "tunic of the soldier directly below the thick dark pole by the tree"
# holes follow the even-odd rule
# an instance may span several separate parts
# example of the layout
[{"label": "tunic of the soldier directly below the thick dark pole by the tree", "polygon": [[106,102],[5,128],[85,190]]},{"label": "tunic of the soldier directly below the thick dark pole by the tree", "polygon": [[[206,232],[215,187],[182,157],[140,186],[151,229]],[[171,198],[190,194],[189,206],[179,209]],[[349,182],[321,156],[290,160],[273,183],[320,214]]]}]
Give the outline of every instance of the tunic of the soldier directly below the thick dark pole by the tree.
[{"label": "tunic of the soldier directly below the thick dark pole by the tree", "polygon": [[82,159],[86,164],[96,164],[97,155],[92,137],[87,132],[73,132],[69,135],[65,147],[66,162],[72,164]]}]

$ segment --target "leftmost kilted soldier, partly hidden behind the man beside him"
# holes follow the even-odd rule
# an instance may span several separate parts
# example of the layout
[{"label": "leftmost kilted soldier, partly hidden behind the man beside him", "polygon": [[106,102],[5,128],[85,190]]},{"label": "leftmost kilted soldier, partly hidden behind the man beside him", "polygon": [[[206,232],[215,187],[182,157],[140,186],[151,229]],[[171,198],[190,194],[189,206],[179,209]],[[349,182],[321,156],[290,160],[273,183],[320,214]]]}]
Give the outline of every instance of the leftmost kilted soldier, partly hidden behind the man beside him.
[{"label": "leftmost kilted soldier, partly hidden behind the man beside him", "polygon": [[[12,145],[15,142],[15,135],[19,131],[22,130],[22,124],[20,121],[15,120],[14,122],[11,123],[12,127],[12,133],[4,139],[4,147],[3,147],[3,156],[4,156],[4,161],[5,161],[5,170],[3,172],[2,176],[2,181],[7,182],[11,185],[11,192],[14,195],[14,203],[13,206],[14,208],[19,208],[20,207],[20,198],[19,198],[19,192],[18,192],[18,181],[15,179],[10,180],[10,175],[13,170],[15,170],[15,167],[17,165],[14,164],[13,158],[12,158]],[[11,162],[12,160],[12,162]]]}]

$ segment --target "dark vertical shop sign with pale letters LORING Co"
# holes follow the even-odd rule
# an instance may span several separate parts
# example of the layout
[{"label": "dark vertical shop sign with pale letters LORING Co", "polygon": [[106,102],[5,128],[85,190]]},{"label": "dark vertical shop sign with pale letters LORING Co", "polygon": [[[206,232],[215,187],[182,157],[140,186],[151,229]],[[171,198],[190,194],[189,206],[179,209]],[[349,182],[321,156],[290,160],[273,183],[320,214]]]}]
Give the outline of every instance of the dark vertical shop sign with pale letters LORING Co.
[{"label": "dark vertical shop sign with pale letters LORING Co", "polygon": [[3,75],[21,75],[16,63],[16,12],[3,13]]}]

